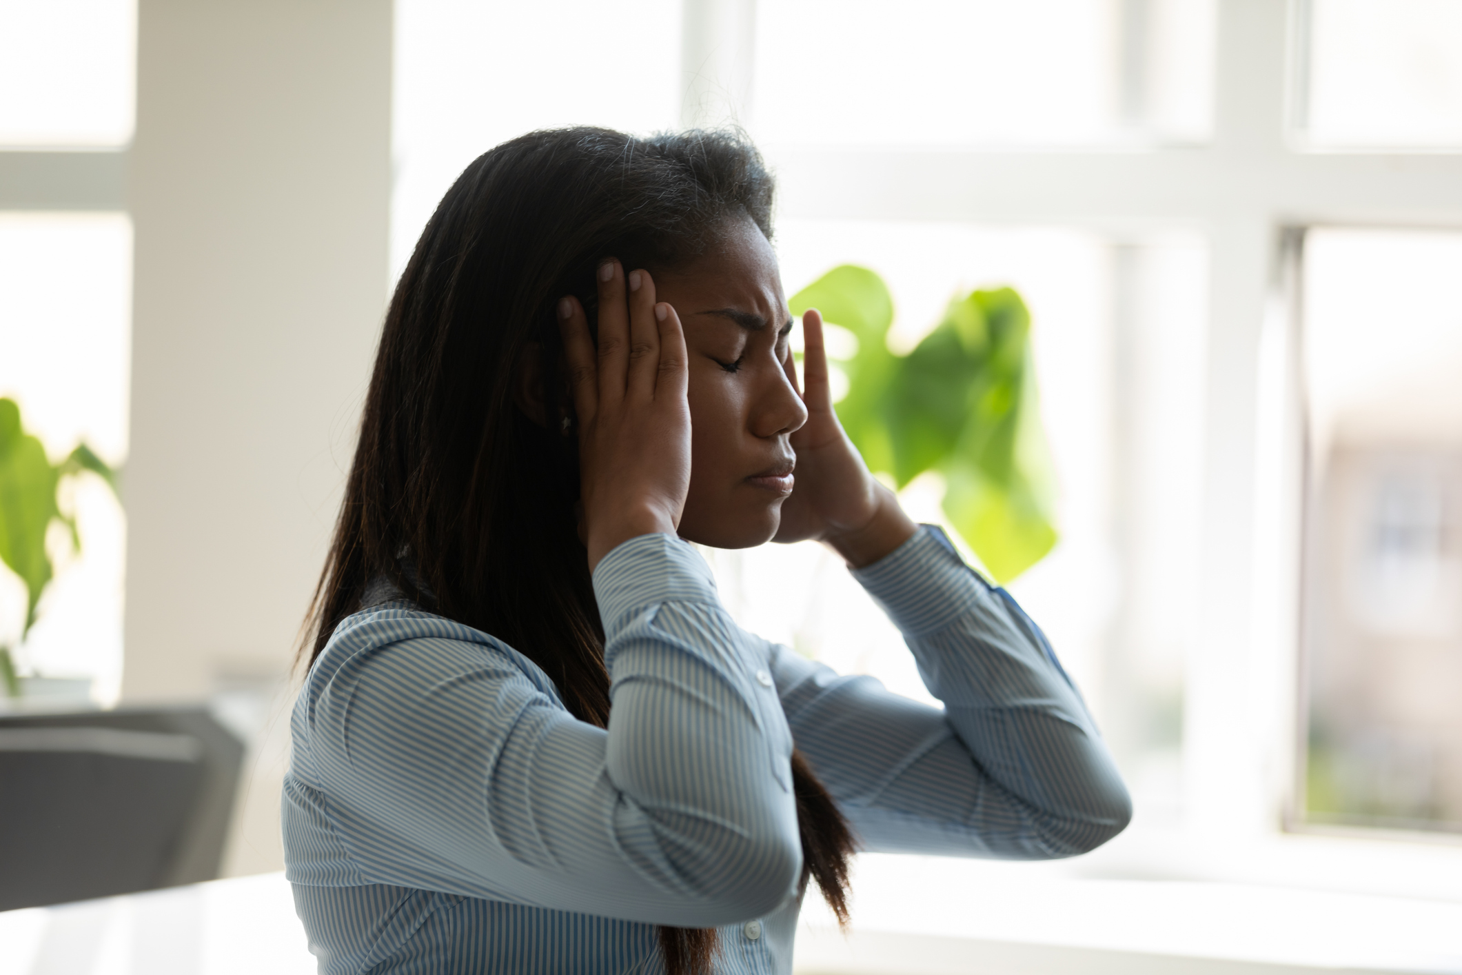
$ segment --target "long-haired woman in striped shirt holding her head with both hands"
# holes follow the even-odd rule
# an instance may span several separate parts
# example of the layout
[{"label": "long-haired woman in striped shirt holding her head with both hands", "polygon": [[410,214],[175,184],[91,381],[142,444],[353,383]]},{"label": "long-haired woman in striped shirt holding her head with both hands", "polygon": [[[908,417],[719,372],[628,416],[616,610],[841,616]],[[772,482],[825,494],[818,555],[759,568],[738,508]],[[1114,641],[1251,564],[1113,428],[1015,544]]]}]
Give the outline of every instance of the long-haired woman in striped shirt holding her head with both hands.
[{"label": "long-haired woman in striped shirt holding her head with both hands", "polygon": [[[789,972],[855,843],[1067,857],[1127,823],[1045,637],[844,436],[816,311],[798,389],[770,209],[735,136],[575,129],[427,225],[294,712],[322,972]],[[944,710],[740,630],[683,539],[826,542]]]}]

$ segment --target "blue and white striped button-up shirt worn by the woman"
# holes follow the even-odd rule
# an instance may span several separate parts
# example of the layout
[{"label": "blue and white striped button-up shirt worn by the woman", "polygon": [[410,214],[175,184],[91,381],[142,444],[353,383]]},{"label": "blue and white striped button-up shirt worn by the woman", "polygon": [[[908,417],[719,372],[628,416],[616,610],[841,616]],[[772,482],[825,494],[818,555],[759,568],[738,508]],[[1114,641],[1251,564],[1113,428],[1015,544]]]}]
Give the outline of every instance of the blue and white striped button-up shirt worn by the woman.
[{"label": "blue and white striped button-up shirt worn by the woman", "polygon": [[1127,792],[1041,630],[937,528],[854,570],[944,710],[746,633],[670,535],[594,572],[608,729],[510,646],[408,602],[345,618],[294,710],[287,876],[320,972],[791,972],[792,741],[867,849],[1050,858]]}]

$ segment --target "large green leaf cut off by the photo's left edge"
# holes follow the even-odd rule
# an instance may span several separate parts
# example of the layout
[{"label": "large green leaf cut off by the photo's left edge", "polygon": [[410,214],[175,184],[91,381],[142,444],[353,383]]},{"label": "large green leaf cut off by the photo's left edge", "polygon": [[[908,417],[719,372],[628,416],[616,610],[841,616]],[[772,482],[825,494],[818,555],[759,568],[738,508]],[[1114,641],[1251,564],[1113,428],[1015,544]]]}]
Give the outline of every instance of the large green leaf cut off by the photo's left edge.
[{"label": "large green leaf cut off by the photo's left edge", "polygon": [[41,591],[51,580],[51,558],[45,551],[45,529],[60,517],[56,485],[60,471],[51,466],[45,447],[20,430],[20,408],[0,399],[0,561],[26,588],[25,633],[35,623]]}]

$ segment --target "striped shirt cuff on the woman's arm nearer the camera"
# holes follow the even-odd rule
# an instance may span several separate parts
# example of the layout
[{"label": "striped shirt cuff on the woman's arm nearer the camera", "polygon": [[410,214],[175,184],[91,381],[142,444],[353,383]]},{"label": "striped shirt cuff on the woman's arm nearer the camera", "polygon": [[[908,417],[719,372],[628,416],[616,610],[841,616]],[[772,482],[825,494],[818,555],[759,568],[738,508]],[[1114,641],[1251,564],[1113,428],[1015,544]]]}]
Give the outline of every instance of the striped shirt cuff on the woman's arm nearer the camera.
[{"label": "striped shirt cuff on the woman's arm nearer the camera", "polygon": [[706,560],[690,542],[665,534],[637,535],[610,550],[594,567],[594,596],[599,602],[605,639],[652,605],[721,605]]}]

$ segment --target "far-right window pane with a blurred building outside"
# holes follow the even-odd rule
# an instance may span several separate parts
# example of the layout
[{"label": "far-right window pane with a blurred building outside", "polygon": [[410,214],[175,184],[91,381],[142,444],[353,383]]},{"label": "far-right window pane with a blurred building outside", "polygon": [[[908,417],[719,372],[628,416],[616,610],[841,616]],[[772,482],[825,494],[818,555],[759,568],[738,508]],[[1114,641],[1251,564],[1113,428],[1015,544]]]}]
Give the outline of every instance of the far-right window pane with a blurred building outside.
[{"label": "far-right window pane with a blurred building outside", "polygon": [[1304,243],[1310,826],[1462,830],[1462,234]]}]

